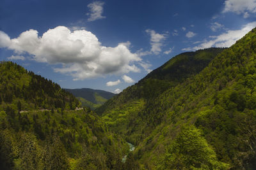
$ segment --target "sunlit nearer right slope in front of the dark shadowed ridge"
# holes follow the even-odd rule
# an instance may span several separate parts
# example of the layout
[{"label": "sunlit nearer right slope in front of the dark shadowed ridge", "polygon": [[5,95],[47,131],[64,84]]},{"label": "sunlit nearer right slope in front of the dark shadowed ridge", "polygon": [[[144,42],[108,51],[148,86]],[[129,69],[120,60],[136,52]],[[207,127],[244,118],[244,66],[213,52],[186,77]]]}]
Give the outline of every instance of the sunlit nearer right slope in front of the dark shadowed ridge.
[{"label": "sunlit nearer right slope in front of the dark shadowed ridge", "polygon": [[[253,29],[200,74],[161,94],[153,106],[159,109],[150,112],[161,125],[137,147],[137,159],[151,168],[194,165],[212,169],[212,161],[218,160],[226,163],[221,169],[255,169],[255,50]],[[206,151],[198,153],[193,136],[207,142],[216,159],[210,159]],[[199,159],[204,157],[209,160]]]}]

